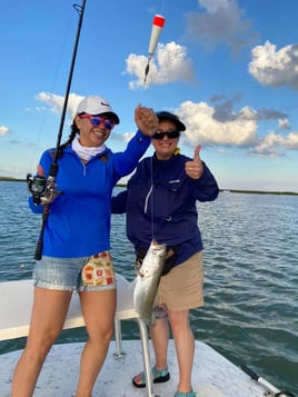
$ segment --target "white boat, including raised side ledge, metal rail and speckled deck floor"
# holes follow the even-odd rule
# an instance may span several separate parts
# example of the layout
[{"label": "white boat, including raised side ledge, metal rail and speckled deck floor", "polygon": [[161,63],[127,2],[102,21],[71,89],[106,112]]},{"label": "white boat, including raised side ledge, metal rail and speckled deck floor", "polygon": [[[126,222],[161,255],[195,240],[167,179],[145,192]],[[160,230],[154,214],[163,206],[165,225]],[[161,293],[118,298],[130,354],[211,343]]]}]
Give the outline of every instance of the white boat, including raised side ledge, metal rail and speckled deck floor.
[{"label": "white boat, including raised side ledge, metal rail and speckled deck floor", "polygon": [[[117,275],[117,290],[116,338],[110,344],[93,397],[172,397],[178,383],[178,366],[172,340],[168,351],[171,379],[166,384],[153,385],[153,388],[149,383],[148,389],[132,386],[132,377],[143,368],[148,368],[148,376],[151,376],[152,346],[148,344],[147,327],[135,310],[133,289],[120,275]],[[0,340],[27,336],[33,299],[32,280],[0,282]],[[140,340],[121,340],[121,321],[125,319],[135,319],[136,327],[139,326]],[[74,294],[64,328],[83,325],[79,297]],[[52,347],[39,377],[34,397],[74,395],[82,345],[82,343],[74,343]],[[125,355],[119,355],[121,351]],[[0,355],[1,397],[10,396],[11,377],[20,354],[21,351],[18,350]],[[265,393],[262,386],[201,341],[196,341],[192,386],[197,397],[264,397]]]}]

